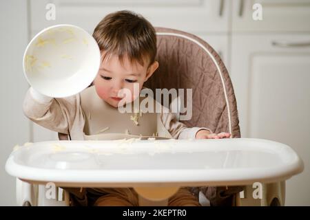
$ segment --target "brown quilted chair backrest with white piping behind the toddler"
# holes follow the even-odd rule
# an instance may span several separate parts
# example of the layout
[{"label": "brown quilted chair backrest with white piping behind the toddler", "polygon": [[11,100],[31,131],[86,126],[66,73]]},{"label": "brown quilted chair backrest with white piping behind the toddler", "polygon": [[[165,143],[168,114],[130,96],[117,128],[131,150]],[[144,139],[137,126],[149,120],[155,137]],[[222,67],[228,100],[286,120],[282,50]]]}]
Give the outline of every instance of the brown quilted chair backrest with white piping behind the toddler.
[{"label": "brown quilted chair backrest with white piping behind the toddler", "polygon": [[187,32],[156,28],[156,34],[159,67],[145,87],[154,94],[156,88],[192,88],[192,119],[183,123],[240,137],[234,88],[217,52],[198,36]]}]

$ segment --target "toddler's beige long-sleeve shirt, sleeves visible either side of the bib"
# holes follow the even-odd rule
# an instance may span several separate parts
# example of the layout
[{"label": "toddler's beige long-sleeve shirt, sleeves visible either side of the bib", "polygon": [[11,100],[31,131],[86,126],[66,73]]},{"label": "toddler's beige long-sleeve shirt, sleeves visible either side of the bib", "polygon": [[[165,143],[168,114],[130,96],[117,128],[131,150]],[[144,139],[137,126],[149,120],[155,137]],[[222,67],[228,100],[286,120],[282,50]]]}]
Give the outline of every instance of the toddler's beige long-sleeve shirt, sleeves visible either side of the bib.
[{"label": "toddler's beige long-sleeve shirt, sleeves visible either side of the bib", "polygon": [[[23,112],[30,120],[46,129],[70,135],[71,140],[84,139],[85,111],[81,105],[81,94],[66,98],[50,98],[39,94],[30,87],[23,102]],[[199,130],[207,129],[187,128],[171,112],[161,112],[160,114],[165,129],[176,139],[195,138]],[[102,127],[104,126],[105,124]],[[119,133],[123,133],[123,131],[124,129]]]}]

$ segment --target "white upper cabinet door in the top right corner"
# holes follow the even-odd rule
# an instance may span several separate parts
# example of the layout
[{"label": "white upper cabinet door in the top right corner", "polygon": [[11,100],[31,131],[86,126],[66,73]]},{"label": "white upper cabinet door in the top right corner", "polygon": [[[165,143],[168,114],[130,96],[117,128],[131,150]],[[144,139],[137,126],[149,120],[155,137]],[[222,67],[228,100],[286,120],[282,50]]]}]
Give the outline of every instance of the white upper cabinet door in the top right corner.
[{"label": "white upper cabinet door in the top right corner", "polygon": [[[310,0],[234,0],[234,32],[309,32]],[[253,5],[262,5],[262,21],[254,21]]]}]

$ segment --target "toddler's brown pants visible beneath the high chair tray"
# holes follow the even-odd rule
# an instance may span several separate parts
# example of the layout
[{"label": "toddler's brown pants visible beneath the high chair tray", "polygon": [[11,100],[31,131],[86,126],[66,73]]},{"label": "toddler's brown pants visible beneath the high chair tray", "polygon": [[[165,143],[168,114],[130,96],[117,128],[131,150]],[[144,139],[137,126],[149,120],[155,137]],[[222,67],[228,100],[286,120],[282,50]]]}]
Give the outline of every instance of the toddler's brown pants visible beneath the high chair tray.
[{"label": "toddler's brown pants visible beneath the high chair tray", "polygon": [[[111,189],[107,195],[99,197],[94,206],[138,206],[138,194],[132,188]],[[200,203],[187,188],[180,188],[168,199],[168,206],[200,206]]]}]

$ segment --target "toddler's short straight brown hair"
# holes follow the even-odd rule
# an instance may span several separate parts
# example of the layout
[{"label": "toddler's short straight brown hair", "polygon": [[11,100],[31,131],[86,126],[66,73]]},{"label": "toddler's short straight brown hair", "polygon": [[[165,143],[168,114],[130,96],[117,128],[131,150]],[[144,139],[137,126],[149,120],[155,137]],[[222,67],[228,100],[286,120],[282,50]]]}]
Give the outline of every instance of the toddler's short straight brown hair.
[{"label": "toddler's short straight brown hair", "polygon": [[[140,14],[122,10],[107,14],[94,29],[94,39],[105,56],[116,55],[121,63],[127,56],[131,63],[154,63],[156,56],[156,32]],[[145,59],[148,58],[148,59]]]}]

